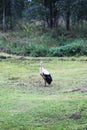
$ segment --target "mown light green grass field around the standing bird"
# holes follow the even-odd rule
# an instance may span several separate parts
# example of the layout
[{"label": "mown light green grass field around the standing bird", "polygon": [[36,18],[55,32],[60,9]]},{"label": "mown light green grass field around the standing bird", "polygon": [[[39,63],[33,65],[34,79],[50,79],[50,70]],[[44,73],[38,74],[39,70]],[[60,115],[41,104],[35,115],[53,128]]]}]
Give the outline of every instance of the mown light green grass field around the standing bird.
[{"label": "mown light green grass field around the standing bird", "polygon": [[[0,130],[87,130],[87,57],[4,56]],[[39,75],[40,60],[52,74],[50,86]]]}]

